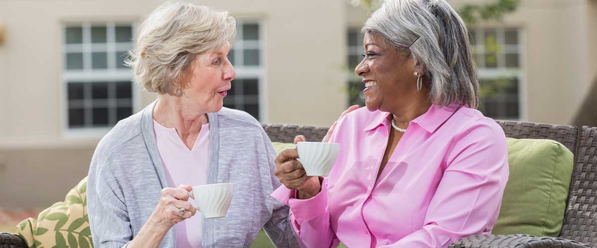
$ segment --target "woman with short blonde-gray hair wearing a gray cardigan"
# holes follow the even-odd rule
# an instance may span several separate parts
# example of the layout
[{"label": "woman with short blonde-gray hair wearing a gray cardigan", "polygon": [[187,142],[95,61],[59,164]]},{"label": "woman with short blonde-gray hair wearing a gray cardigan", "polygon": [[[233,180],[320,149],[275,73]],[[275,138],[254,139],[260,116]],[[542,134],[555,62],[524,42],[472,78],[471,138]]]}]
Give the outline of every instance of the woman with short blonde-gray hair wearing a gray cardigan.
[{"label": "woman with short blonde-gray hair wearing a gray cardigan", "polygon": [[[227,12],[166,2],[143,22],[128,64],[157,101],[101,139],[88,176],[95,247],[249,247],[264,227],[296,247],[269,138],[246,112],[223,108],[235,79],[227,58],[236,24]],[[192,187],[234,183],[226,217],[204,219]],[[179,186],[180,185],[180,186]]]}]

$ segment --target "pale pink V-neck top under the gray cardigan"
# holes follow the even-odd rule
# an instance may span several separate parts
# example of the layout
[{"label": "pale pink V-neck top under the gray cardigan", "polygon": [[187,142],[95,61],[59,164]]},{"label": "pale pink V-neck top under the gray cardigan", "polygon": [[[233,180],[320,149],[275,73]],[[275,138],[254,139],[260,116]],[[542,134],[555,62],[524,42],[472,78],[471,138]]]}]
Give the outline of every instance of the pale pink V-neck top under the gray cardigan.
[{"label": "pale pink V-neck top under the gray cardigan", "polygon": [[[193,149],[189,150],[175,128],[168,128],[153,120],[153,130],[158,143],[159,156],[162,158],[168,187],[180,184],[198,186],[207,183],[209,164],[210,124],[202,125]],[[193,199],[189,199],[197,206]],[[197,211],[195,216],[174,225],[176,228],[176,247],[201,247],[203,215]]]}]

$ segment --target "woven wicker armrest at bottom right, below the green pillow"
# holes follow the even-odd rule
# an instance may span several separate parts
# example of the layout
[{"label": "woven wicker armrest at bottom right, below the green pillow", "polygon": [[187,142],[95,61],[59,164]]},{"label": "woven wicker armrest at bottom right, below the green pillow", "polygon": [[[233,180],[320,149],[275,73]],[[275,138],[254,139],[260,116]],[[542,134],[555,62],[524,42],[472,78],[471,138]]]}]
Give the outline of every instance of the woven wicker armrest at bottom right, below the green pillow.
[{"label": "woven wicker armrest at bottom right, below the green pillow", "polygon": [[526,234],[487,235],[478,234],[462,238],[451,244],[450,248],[587,248],[587,244],[574,240],[553,237],[536,237]]}]

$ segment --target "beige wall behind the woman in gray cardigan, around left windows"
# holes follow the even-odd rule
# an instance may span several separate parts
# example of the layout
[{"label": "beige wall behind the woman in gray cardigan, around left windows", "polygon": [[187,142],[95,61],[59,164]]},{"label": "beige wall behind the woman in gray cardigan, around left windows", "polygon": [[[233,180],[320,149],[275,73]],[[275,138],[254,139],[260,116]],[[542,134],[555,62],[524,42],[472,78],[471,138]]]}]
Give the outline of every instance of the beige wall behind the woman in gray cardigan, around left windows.
[{"label": "beige wall behind the woman in gray cardigan, around left windows", "polygon": [[[343,0],[199,3],[263,23],[264,122],[330,125],[344,110]],[[0,1],[0,23],[7,27],[0,44],[0,199],[10,199],[0,207],[47,206],[63,199],[87,174],[93,149],[103,135],[78,136],[63,130],[61,23],[138,23],[157,4]],[[139,106],[156,97],[149,92],[140,95]]]}]

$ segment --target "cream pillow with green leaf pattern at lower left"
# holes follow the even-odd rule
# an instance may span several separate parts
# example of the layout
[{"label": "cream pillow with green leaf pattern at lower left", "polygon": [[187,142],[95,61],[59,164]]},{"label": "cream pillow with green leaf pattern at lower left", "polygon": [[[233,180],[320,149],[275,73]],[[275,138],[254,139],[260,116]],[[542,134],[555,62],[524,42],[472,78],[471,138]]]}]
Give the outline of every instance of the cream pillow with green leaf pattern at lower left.
[{"label": "cream pillow with green leaf pattern at lower left", "polygon": [[87,177],[57,202],[17,225],[19,236],[29,248],[93,247],[87,216]]}]

